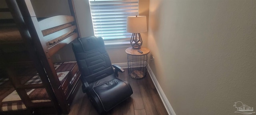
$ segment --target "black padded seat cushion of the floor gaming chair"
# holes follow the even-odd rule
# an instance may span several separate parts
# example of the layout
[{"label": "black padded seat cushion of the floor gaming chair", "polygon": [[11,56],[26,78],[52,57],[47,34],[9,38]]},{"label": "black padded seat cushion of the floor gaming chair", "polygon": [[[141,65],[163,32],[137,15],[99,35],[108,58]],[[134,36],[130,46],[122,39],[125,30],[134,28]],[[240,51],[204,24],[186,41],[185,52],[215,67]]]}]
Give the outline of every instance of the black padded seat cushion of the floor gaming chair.
[{"label": "black padded seat cushion of the floor gaming chair", "polygon": [[103,79],[91,83],[91,93],[94,93],[94,99],[99,100],[103,109],[109,111],[118,103],[132,95],[132,88],[127,81],[118,79],[115,74],[111,74]]}]

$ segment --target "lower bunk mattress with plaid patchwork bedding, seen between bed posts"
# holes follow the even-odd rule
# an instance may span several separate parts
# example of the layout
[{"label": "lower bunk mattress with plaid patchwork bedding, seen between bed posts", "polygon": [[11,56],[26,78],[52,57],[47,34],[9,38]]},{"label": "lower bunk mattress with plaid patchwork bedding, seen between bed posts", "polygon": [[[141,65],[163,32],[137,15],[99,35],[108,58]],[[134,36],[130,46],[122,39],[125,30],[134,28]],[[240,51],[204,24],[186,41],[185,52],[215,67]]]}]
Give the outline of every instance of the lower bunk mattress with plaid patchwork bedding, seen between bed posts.
[{"label": "lower bunk mattress with plaid patchwork bedding, seen between bed posts", "polygon": [[[76,61],[68,61],[64,63],[55,63],[54,67],[56,69],[56,73],[60,80],[60,83],[63,85],[64,81],[71,77],[70,79],[74,79],[77,74],[71,74],[71,71],[77,66]],[[42,83],[40,76],[33,69],[30,70],[20,70],[20,79],[22,84],[36,84]],[[77,72],[76,72],[77,73]],[[0,76],[1,77],[1,76]],[[72,82],[70,80],[69,82]],[[65,88],[64,88],[65,89]],[[26,93],[29,98],[32,100],[32,103],[40,103],[40,102],[49,102],[50,98],[46,92],[46,89],[27,89]],[[10,80],[7,77],[0,78],[0,111],[18,111],[24,110],[26,106],[20,99],[20,96],[12,87]]]}]

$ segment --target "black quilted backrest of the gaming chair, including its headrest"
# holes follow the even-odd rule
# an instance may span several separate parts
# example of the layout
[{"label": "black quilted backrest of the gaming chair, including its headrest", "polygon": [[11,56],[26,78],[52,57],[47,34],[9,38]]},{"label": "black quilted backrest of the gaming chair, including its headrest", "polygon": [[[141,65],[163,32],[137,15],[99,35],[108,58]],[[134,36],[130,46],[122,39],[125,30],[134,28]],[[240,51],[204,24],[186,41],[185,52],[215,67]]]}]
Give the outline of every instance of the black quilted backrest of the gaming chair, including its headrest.
[{"label": "black quilted backrest of the gaming chair, including its headrest", "polygon": [[101,37],[79,38],[72,42],[72,48],[83,82],[92,83],[114,73]]}]

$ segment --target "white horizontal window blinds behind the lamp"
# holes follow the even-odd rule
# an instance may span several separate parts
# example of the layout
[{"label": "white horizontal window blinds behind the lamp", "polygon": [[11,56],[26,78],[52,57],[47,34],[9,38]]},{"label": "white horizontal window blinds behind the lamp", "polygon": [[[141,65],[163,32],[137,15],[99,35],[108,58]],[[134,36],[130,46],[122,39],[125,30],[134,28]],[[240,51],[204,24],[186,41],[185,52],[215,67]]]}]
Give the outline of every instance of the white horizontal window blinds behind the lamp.
[{"label": "white horizontal window blinds behind the lamp", "polygon": [[94,35],[104,40],[130,38],[127,16],[138,15],[138,0],[89,0]]}]

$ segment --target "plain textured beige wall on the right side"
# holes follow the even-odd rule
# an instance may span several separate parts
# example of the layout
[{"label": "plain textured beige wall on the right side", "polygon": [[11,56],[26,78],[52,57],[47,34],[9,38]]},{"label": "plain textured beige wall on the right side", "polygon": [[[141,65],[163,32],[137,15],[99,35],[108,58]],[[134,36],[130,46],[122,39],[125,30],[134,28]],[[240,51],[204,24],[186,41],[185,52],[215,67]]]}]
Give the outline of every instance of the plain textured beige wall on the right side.
[{"label": "plain textured beige wall on the right side", "polygon": [[150,67],[176,115],[255,112],[255,0],[150,0],[149,16]]}]

